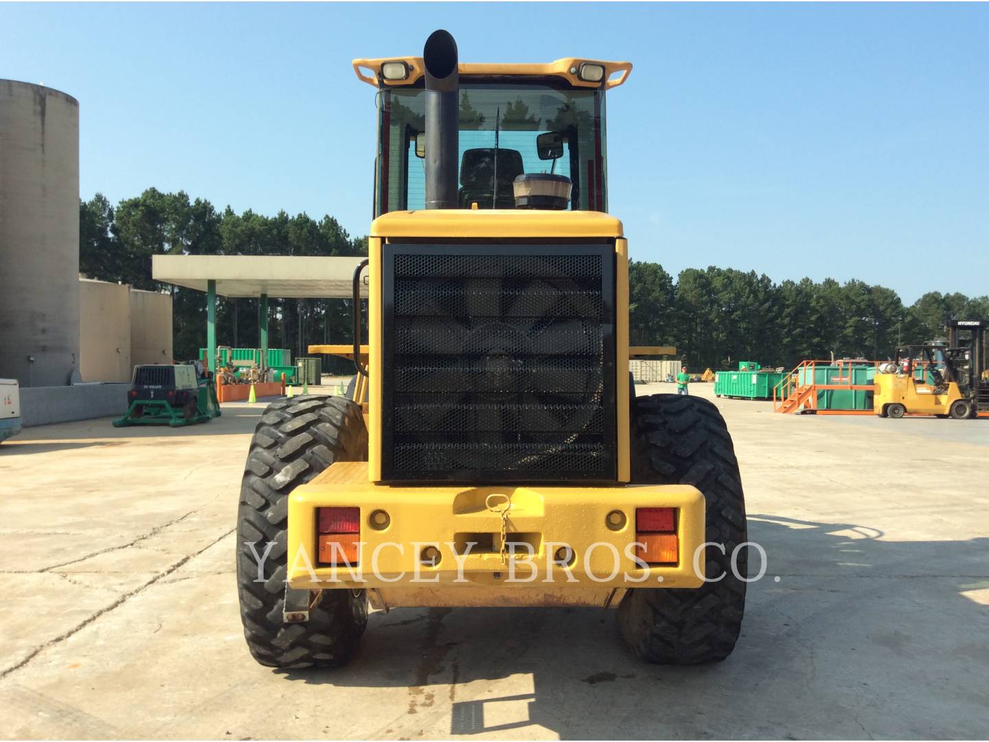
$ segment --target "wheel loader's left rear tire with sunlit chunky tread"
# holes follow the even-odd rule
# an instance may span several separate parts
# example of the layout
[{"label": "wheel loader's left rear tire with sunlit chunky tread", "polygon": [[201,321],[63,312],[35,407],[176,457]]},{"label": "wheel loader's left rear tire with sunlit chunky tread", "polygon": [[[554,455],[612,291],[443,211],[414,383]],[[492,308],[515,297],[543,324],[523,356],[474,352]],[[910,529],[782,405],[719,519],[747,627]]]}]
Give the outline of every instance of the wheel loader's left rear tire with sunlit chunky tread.
[{"label": "wheel loader's left rear tire with sunlit chunky tread", "polygon": [[[350,659],[367,624],[364,591],[324,590],[305,623],[285,623],[288,496],[335,461],[367,461],[359,406],[306,395],[269,405],[251,439],[237,510],[237,594],[244,637],[262,665],[335,667]],[[274,541],[257,582],[259,555]]]}]

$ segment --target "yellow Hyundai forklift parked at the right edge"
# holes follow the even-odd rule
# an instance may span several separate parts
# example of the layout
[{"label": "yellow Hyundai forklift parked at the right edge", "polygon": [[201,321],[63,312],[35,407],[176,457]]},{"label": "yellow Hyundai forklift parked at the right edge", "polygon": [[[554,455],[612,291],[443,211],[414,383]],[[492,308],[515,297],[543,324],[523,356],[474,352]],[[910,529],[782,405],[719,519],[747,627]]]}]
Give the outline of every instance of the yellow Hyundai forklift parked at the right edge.
[{"label": "yellow Hyundai forklift parked at the right edge", "polygon": [[875,375],[879,417],[934,415],[966,419],[989,414],[985,320],[951,320],[947,341],[899,348]]}]

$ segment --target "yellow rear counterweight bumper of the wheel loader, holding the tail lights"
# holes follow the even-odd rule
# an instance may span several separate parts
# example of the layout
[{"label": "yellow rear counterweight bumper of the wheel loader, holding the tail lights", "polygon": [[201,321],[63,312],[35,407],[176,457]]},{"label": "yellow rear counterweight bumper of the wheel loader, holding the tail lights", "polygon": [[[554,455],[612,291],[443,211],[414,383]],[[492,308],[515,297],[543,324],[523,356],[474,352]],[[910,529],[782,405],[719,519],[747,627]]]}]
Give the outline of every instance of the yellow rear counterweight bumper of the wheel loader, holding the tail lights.
[{"label": "yellow rear counterweight bumper of the wheel loader, holding the tail lights", "polygon": [[[694,487],[390,487],[368,482],[366,469],[364,462],[335,463],[292,492],[291,587],[373,589],[389,606],[603,605],[601,597],[617,589],[702,583],[694,555],[704,541],[704,499]],[[318,563],[315,510],[327,507],[360,509],[354,567]],[[635,509],[644,507],[677,511],[675,562],[644,567],[633,559]],[[380,511],[388,515],[384,527],[372,517]],[[618,526],[608,522],[614,511],[624,516]],[[573,550],[567,568],[553,564],[563,545]],[[421,555],[430,546],[440,559],[427,566]],[[499,591],[518,593],[498,598]]]}]

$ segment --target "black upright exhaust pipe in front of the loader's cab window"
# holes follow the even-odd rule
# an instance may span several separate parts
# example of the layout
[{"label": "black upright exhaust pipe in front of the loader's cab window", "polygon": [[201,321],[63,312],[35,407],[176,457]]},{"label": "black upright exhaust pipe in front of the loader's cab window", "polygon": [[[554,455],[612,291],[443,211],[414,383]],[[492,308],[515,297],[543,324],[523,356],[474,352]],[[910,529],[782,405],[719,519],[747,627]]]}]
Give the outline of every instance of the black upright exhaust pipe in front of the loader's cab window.
[{"label": "black upright exhaust pipe in front of the loader's cab window", "polygon": [[456,209],[460,180],[460,71],[457,43],[442,29],[422,50],[426,82],[426,209]]}]

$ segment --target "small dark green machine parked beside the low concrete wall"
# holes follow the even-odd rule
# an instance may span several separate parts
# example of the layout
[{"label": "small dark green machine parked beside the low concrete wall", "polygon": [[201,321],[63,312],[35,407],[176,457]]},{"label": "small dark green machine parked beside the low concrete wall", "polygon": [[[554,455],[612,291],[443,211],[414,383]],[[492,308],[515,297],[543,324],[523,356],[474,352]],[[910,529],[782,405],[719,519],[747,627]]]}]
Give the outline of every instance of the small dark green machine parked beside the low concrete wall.
[{"label": "small dark green machine parked beside the low concrete wall", "polygon": [[114,427],[191,425],[220,417],[213,376],[200,363],[135,366],[127,415]]}]

